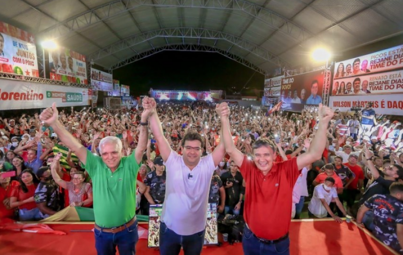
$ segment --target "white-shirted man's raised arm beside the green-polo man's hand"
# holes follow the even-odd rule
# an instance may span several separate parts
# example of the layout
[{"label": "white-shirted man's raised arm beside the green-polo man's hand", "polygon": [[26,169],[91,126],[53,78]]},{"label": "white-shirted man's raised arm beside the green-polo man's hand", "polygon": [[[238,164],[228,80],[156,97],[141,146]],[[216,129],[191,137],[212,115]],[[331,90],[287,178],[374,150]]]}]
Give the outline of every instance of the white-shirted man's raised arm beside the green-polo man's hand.
[{"label": "white-shirted man's raised arm beside the green-polo man's hand", "polygon": [[153,132],[154,139],[157,141],[161,157],[164,162],[166,162],[171,154],[172,149],[171,146],[169,146],[168,140],[164,136],[164,132],[162,131],[161,121],[157,114],[157,103],[155,102],[154,98],[149,98],[149,100],[143,100],[143,107],[151,110],[149,115],[150,128]]}]

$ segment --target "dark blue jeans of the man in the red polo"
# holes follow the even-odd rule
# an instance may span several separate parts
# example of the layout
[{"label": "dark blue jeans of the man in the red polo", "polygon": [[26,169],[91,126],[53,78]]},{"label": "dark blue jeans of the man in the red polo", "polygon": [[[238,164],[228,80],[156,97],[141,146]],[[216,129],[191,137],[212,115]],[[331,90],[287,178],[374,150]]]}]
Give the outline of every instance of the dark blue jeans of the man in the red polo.
[{"label": "dark blue jeans of the man in the red polo", "polygon": [[272,255],[290,254],[290,238],[278,243],[263,243],[253,235],[252,231],[245,225],[243,229],[242,248],[244,255]]}]

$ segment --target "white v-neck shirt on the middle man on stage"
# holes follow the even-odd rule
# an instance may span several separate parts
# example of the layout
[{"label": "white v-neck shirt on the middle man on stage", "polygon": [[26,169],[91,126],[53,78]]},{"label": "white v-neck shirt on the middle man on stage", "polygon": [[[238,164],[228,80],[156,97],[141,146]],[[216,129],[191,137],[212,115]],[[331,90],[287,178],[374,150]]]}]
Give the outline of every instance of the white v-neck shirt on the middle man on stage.
[{"label": "white v-neck shirt on the middle man on stage", "polygon": [[190,171],[182,156],[171,151],[164,165],[167,179],[161,221],[178,235],[205,230],[210,183],[216,169],[213,156],[202,157]]}]

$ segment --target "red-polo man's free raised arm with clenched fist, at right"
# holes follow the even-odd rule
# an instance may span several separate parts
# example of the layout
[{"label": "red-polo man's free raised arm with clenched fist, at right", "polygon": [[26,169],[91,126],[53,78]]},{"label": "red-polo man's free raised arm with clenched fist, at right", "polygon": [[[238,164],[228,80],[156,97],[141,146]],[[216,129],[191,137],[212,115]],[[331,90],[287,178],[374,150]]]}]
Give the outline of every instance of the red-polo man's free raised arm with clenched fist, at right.
[{"label": "red-polo man's free raised arm with clenched fist, at right", "polygon": [[302,169],[304,166],[307,166],[322,157],[322,153],[327,141],[327,124],[333,117],[333,110],[323,106],[322,104],[319,104],[318,114],[319,124],[317,132],[311,142],[309,151],[297,157],[298,169]]}]

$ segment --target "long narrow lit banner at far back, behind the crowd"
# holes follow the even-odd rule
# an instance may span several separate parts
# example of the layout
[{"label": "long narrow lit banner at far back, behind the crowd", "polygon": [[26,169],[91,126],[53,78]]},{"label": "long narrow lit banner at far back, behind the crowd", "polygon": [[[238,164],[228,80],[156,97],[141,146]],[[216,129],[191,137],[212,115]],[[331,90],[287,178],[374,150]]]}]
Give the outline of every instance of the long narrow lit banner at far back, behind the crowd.
[{"label": "long narrow lit banner at far back, behind the crowd", "polygon": [[220,100],[220,94],[211,91],[153,90],[151,97],[160,100]]}]

